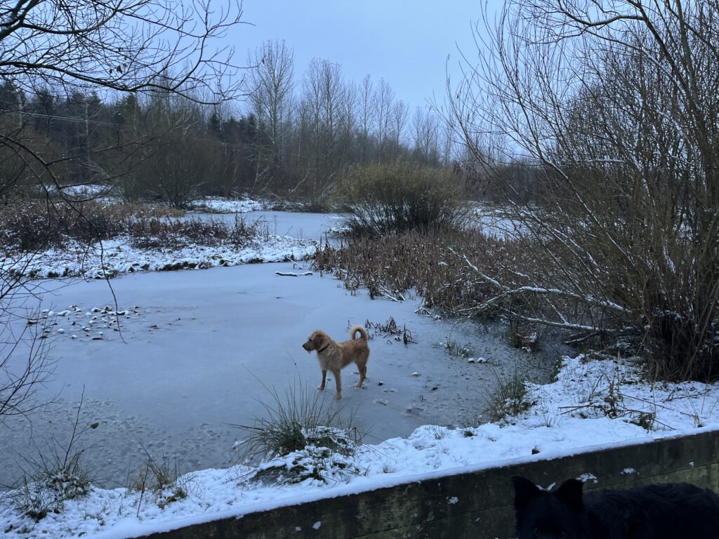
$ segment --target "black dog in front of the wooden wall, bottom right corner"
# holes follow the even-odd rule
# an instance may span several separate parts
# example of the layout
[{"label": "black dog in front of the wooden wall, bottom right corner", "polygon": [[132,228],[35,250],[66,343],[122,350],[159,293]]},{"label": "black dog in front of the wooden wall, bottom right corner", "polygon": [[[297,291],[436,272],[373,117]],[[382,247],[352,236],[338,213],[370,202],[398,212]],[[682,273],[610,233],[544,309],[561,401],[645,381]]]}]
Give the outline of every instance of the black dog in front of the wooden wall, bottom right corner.
[{"label": "black dog in front of the wooden wall, bottom right corner", "polygon": [[687,483],[603,490],[582,496],[569,479],[545,492],[513,477],[518,539],[718,539],[719,496]]}]

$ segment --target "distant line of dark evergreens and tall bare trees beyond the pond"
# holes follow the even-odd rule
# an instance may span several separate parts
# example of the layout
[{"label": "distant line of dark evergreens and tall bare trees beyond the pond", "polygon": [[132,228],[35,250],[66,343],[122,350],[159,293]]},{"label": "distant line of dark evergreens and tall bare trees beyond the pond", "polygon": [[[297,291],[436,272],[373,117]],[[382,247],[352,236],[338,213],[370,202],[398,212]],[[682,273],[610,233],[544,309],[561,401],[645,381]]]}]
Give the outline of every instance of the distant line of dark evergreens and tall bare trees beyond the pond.
[{"label": "distant line of dark evergreens and tall bare trees beyond the pond", "polygon": [[221,106],[169,93],[27,94],[1,81],[0,197],[31,192],[40,179],[114,183],[127,200],[178,207],[242,192],[321,201],[355,165],[452,164],[439,116],[410,114],[384,80],[347,81],[338,64],[318,59],[296,80],[284,42],[265,43],[248,65],[247,100]]}]

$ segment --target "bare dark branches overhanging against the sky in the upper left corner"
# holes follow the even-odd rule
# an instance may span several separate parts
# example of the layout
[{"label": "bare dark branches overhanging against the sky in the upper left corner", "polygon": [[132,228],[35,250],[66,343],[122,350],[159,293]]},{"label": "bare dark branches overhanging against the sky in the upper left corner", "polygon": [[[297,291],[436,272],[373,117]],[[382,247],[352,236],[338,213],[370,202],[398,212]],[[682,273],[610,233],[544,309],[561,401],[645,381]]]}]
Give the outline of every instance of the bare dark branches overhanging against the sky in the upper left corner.
[{"label": "bare dark branches overhanging against the sky in the upper left corner", "polygon": [[[0,75],[27,88],[159,89],[203,96],[232,74],[211,42],[239,23],[242,4],[210,0],[15,0],[0,6]],[[180,68],[171,81],[164,74]],[[225,80],[224,82],[229,82]],[[237,81],[230,82],[237,89]],[[201,91],[202,90],[202,91]]]}]

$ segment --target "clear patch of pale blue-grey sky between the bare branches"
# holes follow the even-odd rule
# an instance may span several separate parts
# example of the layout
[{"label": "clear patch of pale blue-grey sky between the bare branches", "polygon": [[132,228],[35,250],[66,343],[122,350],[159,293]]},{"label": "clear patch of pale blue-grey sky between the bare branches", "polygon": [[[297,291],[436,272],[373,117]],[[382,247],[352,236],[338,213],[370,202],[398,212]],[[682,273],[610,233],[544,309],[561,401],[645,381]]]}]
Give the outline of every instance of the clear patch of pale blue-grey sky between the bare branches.
[{"label": "clear patch of pale blue-grey sky between the bare branches", "polygon": [[[285,40],[295,52],[299,81],[313,57],[342,65],[359,83],[384,78],[412,111],[445,93],[446,57],[457,76],[459,46],[473,52],[472,22],[480,0],[244,0],[244,22],[232,32],[237,60],[265,40]],[[490,0],[490,12],[503,4]]]}]

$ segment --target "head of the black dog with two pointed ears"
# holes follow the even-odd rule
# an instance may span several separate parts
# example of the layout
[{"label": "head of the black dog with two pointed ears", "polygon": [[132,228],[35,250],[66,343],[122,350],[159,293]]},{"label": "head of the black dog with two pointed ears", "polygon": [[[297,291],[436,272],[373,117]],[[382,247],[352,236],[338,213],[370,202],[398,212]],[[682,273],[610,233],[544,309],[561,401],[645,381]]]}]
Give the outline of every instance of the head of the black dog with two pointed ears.
[{"label": "head of the black dog with two pointed ears", "polygon": [[554,492],[523,477],[513,477],[512,483],[518,539],[582,537],[582,482],[569,479]]}]

